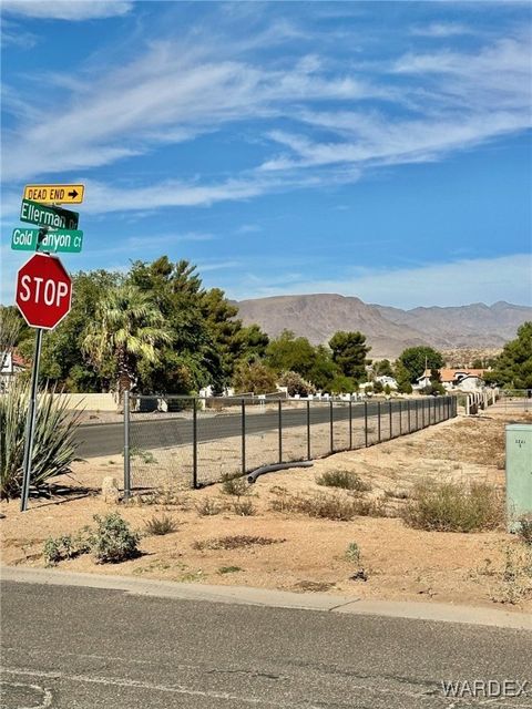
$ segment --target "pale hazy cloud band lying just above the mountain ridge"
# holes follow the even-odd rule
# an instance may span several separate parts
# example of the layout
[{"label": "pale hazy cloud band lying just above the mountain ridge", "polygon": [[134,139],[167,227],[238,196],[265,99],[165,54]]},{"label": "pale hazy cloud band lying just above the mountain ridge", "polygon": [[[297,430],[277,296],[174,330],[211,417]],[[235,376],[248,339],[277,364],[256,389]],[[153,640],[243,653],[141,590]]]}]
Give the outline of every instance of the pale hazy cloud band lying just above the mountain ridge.
[{"label": "pale hazy cloud band lying just above the mountain ridge", "polygon": [[266,296],[336,292],[357,296],[366,302],[417,306],[459,306],[466,302],[492,304],[508,300],[532,305],[532,256],[515,254],[499,258],[462,259],[418,268],[366,268],[352,278],[293,279],[275,274],[253,276],[244,284],[227,287],[228,296],[243,300]]}]

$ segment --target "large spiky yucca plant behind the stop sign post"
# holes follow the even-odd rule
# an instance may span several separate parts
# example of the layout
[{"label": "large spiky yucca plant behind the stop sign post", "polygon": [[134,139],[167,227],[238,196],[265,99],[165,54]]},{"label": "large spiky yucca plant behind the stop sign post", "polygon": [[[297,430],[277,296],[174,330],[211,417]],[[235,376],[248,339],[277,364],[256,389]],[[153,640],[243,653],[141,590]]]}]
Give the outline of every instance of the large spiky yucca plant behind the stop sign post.
[{"label": "large spiky yucca plant behind the stop sign post", "polygon": [[[42,389],[35,417],[30,486],[43,490],[51,477],[71,472],[78,443],[75,430],[81,411],[69,410],[64,398]],[[16,378],[9,391],[0,395],[0,497],[20,495],[24,454],[25,424],[30,388]]]}]

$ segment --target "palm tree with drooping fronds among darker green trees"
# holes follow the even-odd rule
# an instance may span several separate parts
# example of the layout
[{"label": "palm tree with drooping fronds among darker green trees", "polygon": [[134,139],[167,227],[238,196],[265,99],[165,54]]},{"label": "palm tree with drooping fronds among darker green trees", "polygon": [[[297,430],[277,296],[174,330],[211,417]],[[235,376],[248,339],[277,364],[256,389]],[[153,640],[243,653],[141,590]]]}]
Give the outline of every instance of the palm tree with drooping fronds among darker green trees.
[{"label": "palm tree with drooping fronds among darker green trees", "polygon": [[150,294],[132,284],[109,290],[96,306],[88,326],[83,351],[99,369],[116,366],[119,401],[136,384],[140,360],[156,363],[157,345],[172,340],[164,317]]}]

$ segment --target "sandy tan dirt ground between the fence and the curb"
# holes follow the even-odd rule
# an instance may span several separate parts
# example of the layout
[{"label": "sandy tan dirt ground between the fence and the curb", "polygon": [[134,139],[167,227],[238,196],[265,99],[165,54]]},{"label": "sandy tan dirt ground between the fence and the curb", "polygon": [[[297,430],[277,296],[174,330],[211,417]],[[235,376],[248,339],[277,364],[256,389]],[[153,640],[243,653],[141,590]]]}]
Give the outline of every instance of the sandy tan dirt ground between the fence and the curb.
[{"label": "sandy tan dirt ground between the fence and the curb", "polygon": [[[119,510],[143,533],[139,558],[96,565],[90,555],[83,555],[59,567],[165,580],[330,592],[359,598],[492,607],[504,603],[508,609],[532,610],[532,594],[519,597],[514,593],[516,582],[509,573],[509,563],[515,564],[522,547],[512,535],[503,531],[424,532],[409,528],[399,516],[409,491],[426,479],[487,481],[502,487],[507,422],[508,414],[488,411],[369,449],[337,453],[309,469],[264,475],[239,497],[239,502],[252,502],[256,511],[253,516],[237,514],[234,503],[238,500],[224,494],[219,484],[197,491],[167,489],[156,499],[152,495],[127,504],[106,504],[99,494],[102,479],[115,475],[120,480],[122,459],[78,463],[68,483],[73,489],[90,487],[88,494],[72,492],[53,501],[31,501],[25,514],[19,512],[17,502],[2,503],[2,563],[44,566],[42,547],[49,536],[76,532],[91,524],[94,514]],[[316,483],[317,476],[332,470],[356,472],[371,486],[364,495],[380,500],[388,516],[337,522],[272,511],[273,501],[284,496],[311,492],[348,495]],[[200,514],[207,499],[223,511],[212,516]],[[146,522],[163,514],[172,517],[176,531],[165,536],[147,535]],[[236,535],[266,537],[274,543],[232,549],[194,546]],[[359,563],[346,556],[354,542],[360,549]],[[357,573],[362,569],[364,574]]]}]

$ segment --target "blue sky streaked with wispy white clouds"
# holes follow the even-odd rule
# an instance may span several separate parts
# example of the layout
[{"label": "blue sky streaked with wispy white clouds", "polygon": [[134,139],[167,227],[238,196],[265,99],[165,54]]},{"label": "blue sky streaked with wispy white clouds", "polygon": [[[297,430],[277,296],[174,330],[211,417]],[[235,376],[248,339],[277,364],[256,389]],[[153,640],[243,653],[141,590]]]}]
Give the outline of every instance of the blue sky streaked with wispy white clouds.
[{"label": "blue sky streaked with wispy white clouds", "polygon": [[3,302],[24,184],[81,182],[73,271],[531,304],[530,3],[1,7]]}]

